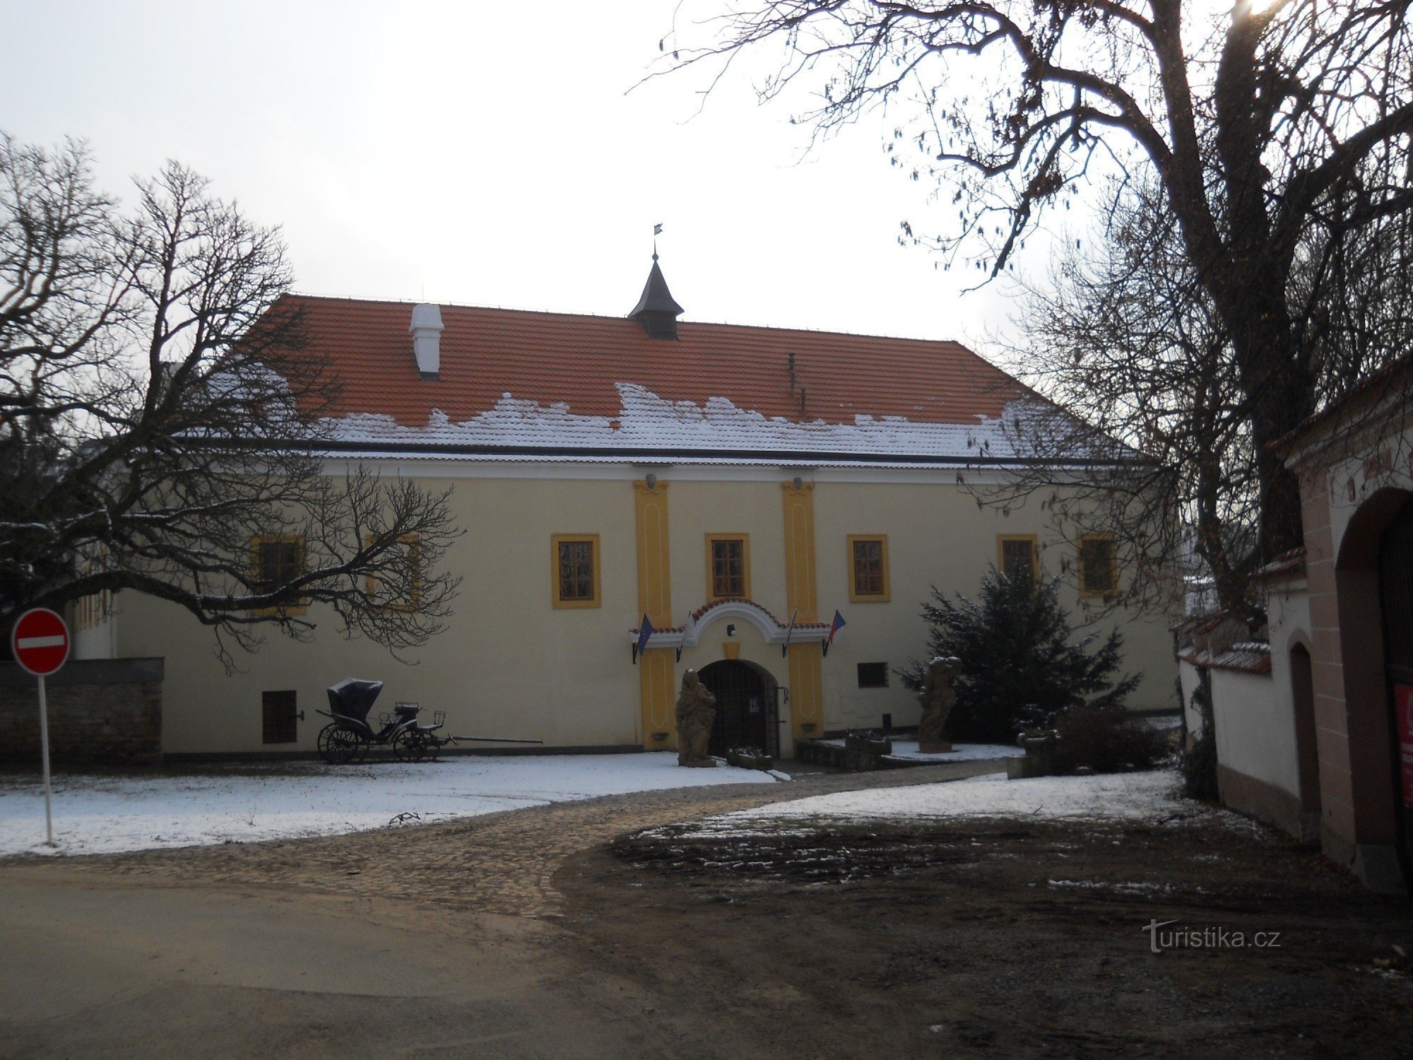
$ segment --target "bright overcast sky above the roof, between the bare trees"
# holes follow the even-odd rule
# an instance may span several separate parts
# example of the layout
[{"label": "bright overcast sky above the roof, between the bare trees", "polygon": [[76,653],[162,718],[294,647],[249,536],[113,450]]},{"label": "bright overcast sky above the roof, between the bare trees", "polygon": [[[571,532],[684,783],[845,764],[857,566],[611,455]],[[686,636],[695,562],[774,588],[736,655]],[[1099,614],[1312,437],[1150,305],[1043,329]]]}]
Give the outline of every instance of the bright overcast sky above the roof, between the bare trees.
[{"label": "bright overcast sky above the roof, between the bare trees", "polygon": [[805,157],[745,72],[627,92],[674,0],[4,4],[0,129],[88,139],[117,195],[187,163],[301,291],[620,315],[661,222],[685,319],[982,346],[1006,312],[897,245],[938,208],[879,126]]}]

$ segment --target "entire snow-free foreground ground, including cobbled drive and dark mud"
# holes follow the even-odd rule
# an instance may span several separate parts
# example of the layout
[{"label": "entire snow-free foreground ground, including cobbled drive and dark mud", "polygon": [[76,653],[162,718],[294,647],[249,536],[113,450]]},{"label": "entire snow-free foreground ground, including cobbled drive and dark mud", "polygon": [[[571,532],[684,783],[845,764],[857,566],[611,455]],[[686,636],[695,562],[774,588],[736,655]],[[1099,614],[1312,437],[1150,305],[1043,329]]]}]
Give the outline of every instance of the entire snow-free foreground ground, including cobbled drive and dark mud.
[{"label": "entire snow-free foreground ground, including cobbled drive and dark mud", "polygon": [[1409,903],[1269,832],[661,827],[944,776],[0,864],[0,1056],[1413,1054]]}]

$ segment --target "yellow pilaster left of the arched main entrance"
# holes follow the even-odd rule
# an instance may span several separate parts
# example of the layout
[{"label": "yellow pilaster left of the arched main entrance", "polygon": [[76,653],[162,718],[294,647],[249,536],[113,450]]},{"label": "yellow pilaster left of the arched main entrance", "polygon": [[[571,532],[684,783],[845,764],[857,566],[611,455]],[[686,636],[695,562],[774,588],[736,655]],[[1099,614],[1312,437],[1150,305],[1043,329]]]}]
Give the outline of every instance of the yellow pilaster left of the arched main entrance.
[{"label": "yellow pilaster left of the arched main entrance", "polygon": [[[656,629],[673,625],[673,588],[668,578],[667,483],[633,483],[637,530],[637,615],[647,615]],[[643,746],[667,750],[677,746],[673,711],[675,659],[670,647],[653,647],[639,656],[639,691],[643,711]],[[661,739],[656,736],[666,734]]]}]

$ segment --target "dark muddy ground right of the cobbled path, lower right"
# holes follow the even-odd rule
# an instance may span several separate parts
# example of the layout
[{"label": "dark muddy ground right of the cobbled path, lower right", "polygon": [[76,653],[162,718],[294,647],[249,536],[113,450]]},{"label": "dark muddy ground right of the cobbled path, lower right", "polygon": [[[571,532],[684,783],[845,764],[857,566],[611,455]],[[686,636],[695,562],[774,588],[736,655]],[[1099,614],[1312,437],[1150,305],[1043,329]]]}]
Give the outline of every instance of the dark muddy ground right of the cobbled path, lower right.
[{"label": "dark muddy ground right of the cobbled path, lower right", "polygon": [[555,885],[684,1053],[1413,1056],[1407,900],[1234,821],[670,827]]}]

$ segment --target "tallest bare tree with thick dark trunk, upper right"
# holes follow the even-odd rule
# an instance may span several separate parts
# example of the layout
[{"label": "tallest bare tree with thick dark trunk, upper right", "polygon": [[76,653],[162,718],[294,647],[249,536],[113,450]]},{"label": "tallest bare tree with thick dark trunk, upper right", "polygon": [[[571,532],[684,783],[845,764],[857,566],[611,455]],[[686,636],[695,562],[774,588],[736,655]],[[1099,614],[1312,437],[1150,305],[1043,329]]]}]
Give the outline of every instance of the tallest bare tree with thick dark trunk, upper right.
[{"label": "tallest bare tree with thick dark trunk, upper right", "polygon": [[797,119],[822,133],[886,106],[897,163],[957,209],[917,239],[952,260],[969,245],[992,276],[1094,172],[1156,181],[1231,345],[1272,557],[1300,543],[1297,483],[1267,447],[1317,407],[1327,300],[1311,295],[1413,206],[1407,8],[1238,0],[1204,21],[1180,0],[774,0],[674,54],[776,48],[762,95],[814,88]]}]

